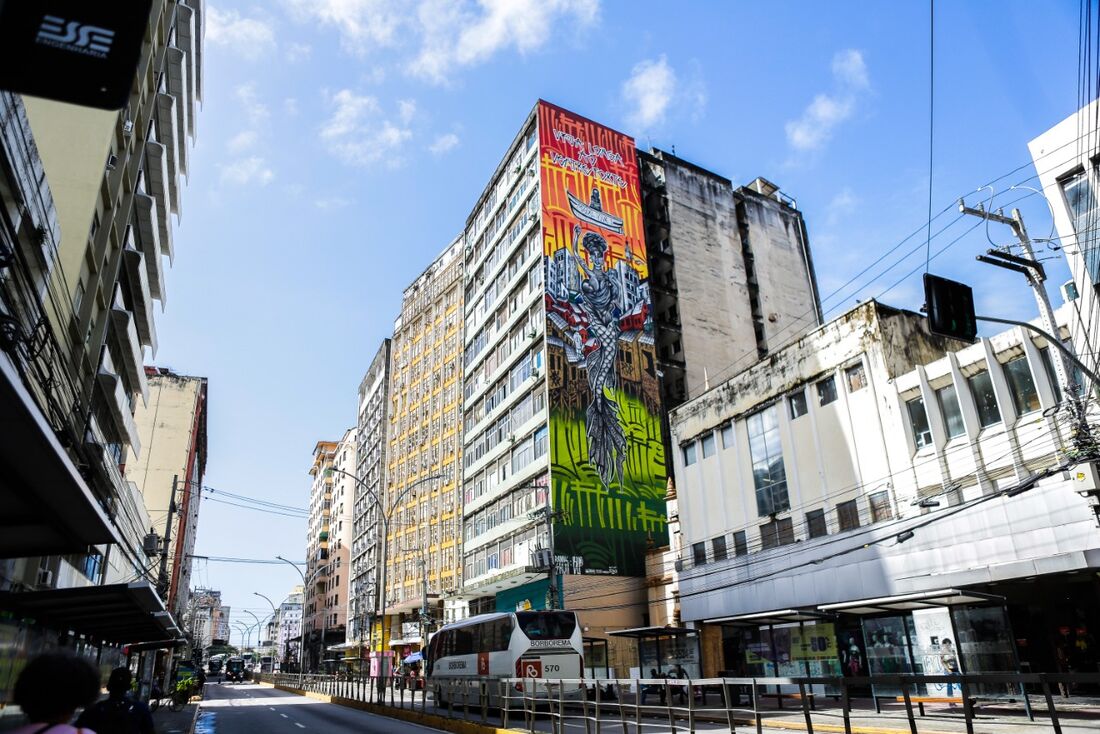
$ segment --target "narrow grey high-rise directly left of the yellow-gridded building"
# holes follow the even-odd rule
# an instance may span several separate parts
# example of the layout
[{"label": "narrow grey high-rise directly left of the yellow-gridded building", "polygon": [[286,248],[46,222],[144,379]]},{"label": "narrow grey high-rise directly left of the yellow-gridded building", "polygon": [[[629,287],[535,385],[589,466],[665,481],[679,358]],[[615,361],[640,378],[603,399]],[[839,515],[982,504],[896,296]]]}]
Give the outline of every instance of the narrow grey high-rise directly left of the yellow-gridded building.
[{"label": "narrow grey high-rise directly left of the yellow-gridded building", "polygon": [[[386,484],[386,435],[389,429],[389,339],[383,339],[371,366],[359,384],[359,420],[355,436],[355,502],[352,517],[351,596],[348,638],[373,635],[377,614],[381,562],[380,505]],[[370,644],[370,639],[367,639]],[[381,646],[381,640],[380,640]],[[370,644],[374,649],[374,645]],[[381,649],[380,649],[381,651]]]}]

